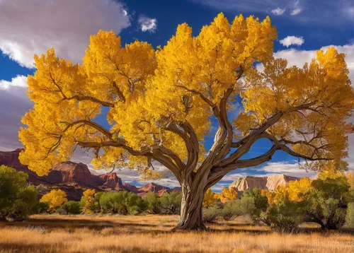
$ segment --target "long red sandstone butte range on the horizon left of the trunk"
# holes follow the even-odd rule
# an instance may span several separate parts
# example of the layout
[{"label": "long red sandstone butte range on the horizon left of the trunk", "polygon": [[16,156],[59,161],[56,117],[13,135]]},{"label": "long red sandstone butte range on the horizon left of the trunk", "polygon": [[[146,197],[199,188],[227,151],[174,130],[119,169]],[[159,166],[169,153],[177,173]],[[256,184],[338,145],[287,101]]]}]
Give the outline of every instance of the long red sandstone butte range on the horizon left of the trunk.
[{"label": "long red sandstone butte range on the horizon left of the trunk", "polygon": [[89,167],[84,163],[74,163],[71,161],[58,163],[45,177],[39,177],[35,172],[28,170],[18,160],[21,148],[15,151],[0,151],[0,165],[7,165],[28,174],[28,183],[37,186],[39,197],[51,189],[62,189],[67,193],[69,200],[79,201],[82,192],[86,189],[96,189],[97,192],[103,191],[122,191],[134,192],[141,196],[147,193],[157,193],[159,196],[165,193],[181,192],[180,187],[173,189],[159,184],[149,183],[143,187],[136,187],[132,184],[123,184],[120,177],[115,172],[108,172],[103,175],[93,175]]}]

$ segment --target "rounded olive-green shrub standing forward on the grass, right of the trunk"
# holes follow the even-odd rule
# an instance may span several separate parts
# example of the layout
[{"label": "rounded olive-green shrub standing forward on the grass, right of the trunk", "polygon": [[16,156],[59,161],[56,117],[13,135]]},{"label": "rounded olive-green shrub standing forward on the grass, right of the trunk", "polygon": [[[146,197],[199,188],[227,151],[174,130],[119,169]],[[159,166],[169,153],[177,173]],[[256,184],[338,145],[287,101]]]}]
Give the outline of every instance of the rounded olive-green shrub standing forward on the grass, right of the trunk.
[{"label": "rounded olive-green shrub standing forward on the grass, right of the trunk", "polygon": [[267,220],[271,227],[280,233],[294,233],[303,222],[304,208],[301,202],[284,201],[272,204],[268,208]]}]

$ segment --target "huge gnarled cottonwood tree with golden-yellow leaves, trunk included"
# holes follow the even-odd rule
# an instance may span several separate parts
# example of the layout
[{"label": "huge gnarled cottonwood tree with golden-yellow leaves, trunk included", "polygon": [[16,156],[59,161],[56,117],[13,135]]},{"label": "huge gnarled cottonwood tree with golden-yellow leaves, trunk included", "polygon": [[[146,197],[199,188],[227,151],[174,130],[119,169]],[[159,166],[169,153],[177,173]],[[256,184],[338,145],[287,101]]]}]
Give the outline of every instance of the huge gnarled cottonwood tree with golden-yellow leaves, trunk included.
[{"label": "huge gnarled cottonwood tree with golden-yellow leaves, trunk included", "polygon": [[[178,228],[203,229],[204,194],[228,172],[265,163],[275,151],[307,160],[346,156],[353,90],[344,54],[331,47],[303,68],[287,67],[273,59],[276,38],[269,17],[229,23],[221,13],[196,36],[178,25],[156,50],[139,41],[122,47],[115,33],[99,31],[83,64],[58,59],[54,49],[35,56],[21,163],[45,175],[76,146],[94,151],[97,168],[151,173],[152,162],[161,163],[181,183]],[[244,110],[232,118],[236,100]],[[212,121],[217,131],[205,151]],[[259,139],[269,139],[270,149],[243,159]]]}]

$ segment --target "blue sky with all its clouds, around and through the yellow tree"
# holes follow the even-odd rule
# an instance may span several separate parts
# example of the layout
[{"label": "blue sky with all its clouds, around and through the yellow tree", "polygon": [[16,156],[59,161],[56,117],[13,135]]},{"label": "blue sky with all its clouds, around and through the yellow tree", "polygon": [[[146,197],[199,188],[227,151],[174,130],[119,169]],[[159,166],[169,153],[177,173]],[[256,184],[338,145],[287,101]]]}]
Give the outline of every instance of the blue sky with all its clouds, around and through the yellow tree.
[{"label": "blue sky with all its clouds, around and through the yellow tree", "polygon": [[[354,83],[354,1],[284,1],[284,0],[2,0],[0,1],[0,150],[21,147],[17,132],[20,119],[32,103],[25,95],[25,78],[34,73],[33,54],[55,47],[59,57],[80,62],[89,35],[98,29],[114,30],[123,43],[144,40],[154,47],[166,45],[179,23],[186,22],[197,35],[202,25],[223,12],[229,20],[243,13],[261,19],[270,16],[277,27],[279,40],[274,44],[275,57],[301,66],[314,57],[314,50],[335,45],[347,54],[350,78]],[[100,119],[103,120],[103,119]],[[207,136],[205,145],[211,145]],[[354,168],[354,137],[350,136],[350,168]],[[245,157],[260,155],[269,147],[268,141],[254,144]],[[74,160],[89,163],[87,155]],[[236,170],[227,175],[214,189],[228,185],[244,175],[313,176],[299,170],[297,160],[278,151],[270,163],[256,168]],[[137,181],[137,175],[118,171],[125,182]],[[160,184],[176,186],[173,177]]]}]

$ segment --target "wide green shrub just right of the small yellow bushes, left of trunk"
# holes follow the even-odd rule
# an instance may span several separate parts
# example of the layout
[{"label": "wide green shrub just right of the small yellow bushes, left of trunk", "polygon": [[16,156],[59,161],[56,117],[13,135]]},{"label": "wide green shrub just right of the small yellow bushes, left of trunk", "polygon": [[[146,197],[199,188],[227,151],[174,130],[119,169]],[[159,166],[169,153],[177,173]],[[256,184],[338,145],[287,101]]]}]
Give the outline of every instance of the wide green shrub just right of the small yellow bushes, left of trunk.
[{"label": "wide green shrub just right of the small yellow bushes, left of trunk", "polygon": [[101,195],[99,204],[103,213],[120,213],[135,215],[144,211],[147,203],[142,197],[127,191],[105,192]]}]

